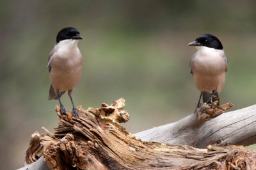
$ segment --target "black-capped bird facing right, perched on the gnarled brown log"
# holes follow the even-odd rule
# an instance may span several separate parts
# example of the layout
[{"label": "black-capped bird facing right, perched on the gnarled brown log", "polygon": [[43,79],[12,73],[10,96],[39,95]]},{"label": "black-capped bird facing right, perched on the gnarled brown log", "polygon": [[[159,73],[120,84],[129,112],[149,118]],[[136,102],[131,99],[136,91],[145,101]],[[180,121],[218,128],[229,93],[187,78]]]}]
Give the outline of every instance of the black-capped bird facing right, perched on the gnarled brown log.
[{"label": "black-capped bird facing right, perched on the gnarled brown log", "polygon": [[81,77],[83,57],[77,43],[83,39],[74,27],[61,29],[56,37],[56,45],[49,53],[47,69],[51,87],[48,99],[58,99],[61,114],[67,114],[60,97],[68,91],[72,103],[72,115],[78,117],[77,109],[72,99],[72,90]]}]

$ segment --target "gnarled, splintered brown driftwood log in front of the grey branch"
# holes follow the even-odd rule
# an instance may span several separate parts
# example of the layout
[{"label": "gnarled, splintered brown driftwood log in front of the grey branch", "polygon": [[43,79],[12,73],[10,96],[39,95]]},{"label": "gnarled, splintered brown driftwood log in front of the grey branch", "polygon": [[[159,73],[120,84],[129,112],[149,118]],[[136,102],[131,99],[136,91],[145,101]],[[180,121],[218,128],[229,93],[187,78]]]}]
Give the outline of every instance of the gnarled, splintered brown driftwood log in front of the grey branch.
[{"label": "gnarled, splintered brown driftwood log in front of the grey branch", "polygon": [[[55,133],[35,132],[31,136],[26,153],[26,165],[30,165],[21,169],[40,169],[42,157],[50,169],[256,169],[256,152],[242,146],[210,145],[199,149],[142,141],[119,124],[129,120],[128,113],[122,110],[124,106],[124,99],[119,99],[99,109],[80,107],[79,118],[71,113],[61,115],[57,107],[60,122]],[[225,110],[208,105],[202,108],[200,117],[209,115],[204,121]],[[189,130],[193,125],[185,127]],[[45,164],[42,169],[47,169]]]}]

